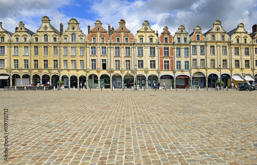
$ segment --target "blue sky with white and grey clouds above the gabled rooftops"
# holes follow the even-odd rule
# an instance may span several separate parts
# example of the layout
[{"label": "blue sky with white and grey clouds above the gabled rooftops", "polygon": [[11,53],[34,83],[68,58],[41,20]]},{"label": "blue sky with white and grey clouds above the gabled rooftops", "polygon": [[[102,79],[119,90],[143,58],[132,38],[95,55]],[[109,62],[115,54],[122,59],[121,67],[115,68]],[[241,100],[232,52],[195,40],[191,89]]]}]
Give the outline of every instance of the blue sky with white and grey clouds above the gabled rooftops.
[{"label": "blue sky with white and grey clouds above the gabled rooftops", "polygon": [[97,20],[107,30],[108,24],[117,29],[121,19],[134,35],[144,20],[155,31],[162,32],[168,26],[172,35],[180,25],[190,33],[196,26],[206,32],[215,20],[220,20],[227,32],[239,23],[251,32],[257,23],[257,0],[0,0],[0,22],[8,31],[14,32],[22,21],[36,32],[45,15],[58,30],[60,23],[65,30],[67,22],[75,18],[85,34],[87,26],[93,28]]}]

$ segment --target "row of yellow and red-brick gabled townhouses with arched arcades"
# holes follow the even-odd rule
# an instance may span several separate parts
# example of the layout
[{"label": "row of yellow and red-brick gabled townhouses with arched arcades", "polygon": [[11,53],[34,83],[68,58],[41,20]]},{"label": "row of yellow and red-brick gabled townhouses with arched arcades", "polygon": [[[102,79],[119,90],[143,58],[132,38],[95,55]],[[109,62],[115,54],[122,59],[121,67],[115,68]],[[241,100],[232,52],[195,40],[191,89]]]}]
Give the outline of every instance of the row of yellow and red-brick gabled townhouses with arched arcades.
[{"label": "row of yellow and red-brick gabled townhouses with arched arcades", "polygon": [[189,88],[215,87],[220,78],[224,86],[257,80],[257,36],[243,23],[227,32],[217,20],[204,34],[200,26],[189,34],[181,25],[174,37],[168,27],[159,36],[148,21],[135,36],[124,20],[116,30],[96,21],[87,36],[76,19],[64,32],[60,26],[58,31],[44,16],[35,33],[23,22],[11,33],[0,23],[1,87],[48,81],[57,86],[59,74],[65,87],[86,81],[91,88],[131,88],[136,79],[137,88],[164,81],[168,88]]}]

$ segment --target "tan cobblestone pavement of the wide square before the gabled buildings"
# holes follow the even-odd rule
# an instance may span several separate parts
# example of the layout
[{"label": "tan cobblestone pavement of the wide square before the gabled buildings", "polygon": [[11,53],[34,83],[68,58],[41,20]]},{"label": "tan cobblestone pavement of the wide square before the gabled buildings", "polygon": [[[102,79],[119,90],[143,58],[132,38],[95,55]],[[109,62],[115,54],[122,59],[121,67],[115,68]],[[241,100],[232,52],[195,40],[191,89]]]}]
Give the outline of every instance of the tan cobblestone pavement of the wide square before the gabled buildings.
[{"label": "tan cobblestone pavement of the wide square before the gabled buildings", "polygon": [[257,91],[0,94],[0,164],[257,164]]}]

